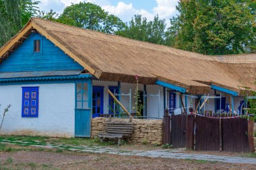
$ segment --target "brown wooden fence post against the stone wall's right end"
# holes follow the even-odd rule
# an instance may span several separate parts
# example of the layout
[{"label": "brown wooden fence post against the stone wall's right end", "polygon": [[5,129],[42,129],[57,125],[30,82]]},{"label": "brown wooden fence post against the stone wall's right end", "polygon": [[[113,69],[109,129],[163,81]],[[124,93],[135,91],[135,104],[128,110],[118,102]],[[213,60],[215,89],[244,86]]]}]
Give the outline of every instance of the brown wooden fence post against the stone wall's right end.
[{"label": "brown wooden fence post against the stone wall's right end", "polygon": [[164,112],[162,134],[162,144],[170,145],[170,116],[168,109],[166,109]]}]

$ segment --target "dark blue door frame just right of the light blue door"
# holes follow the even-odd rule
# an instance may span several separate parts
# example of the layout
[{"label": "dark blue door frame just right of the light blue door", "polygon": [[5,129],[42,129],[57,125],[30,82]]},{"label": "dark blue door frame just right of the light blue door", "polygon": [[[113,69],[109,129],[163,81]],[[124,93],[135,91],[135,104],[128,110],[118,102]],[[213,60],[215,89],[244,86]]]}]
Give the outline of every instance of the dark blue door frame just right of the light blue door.
[{"label": "dark blue door frame just right of the light blue door", "polygon": [[94,86],[92,90],[92,118],[103,114],[104,87]]}]

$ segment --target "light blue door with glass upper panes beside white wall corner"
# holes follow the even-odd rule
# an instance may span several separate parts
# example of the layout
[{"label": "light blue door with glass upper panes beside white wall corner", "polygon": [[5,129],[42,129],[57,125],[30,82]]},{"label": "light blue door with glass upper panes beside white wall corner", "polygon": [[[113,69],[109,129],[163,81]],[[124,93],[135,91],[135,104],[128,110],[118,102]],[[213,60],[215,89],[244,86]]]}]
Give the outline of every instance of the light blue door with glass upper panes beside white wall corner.
[{"label": "light blue door with glass upper panes beside white wall corner", "polygon": [[91,136],[92,83],[75,84],[75,137]]}]

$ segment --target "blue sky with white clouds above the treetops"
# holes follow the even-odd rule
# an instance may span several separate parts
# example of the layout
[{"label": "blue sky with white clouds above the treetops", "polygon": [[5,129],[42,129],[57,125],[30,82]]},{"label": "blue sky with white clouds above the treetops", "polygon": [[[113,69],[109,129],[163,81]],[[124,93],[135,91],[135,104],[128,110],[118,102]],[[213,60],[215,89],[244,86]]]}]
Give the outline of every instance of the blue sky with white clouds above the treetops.
[{"label": "blue sky with white clouds above the treetops", "polygon": [[[40,11],[56,11],[61,13],[71,3],[79,3],[81,0],[40,0]],[[100,5],[110,14],[117,15],[123,22],[129,22],[135,14],[141,14],[152,20],[155,15],[160,19],[168,19],[177,15],[176,5],[179,0],[82,0]],[[168,24],[168,22],[167,22]]]}]

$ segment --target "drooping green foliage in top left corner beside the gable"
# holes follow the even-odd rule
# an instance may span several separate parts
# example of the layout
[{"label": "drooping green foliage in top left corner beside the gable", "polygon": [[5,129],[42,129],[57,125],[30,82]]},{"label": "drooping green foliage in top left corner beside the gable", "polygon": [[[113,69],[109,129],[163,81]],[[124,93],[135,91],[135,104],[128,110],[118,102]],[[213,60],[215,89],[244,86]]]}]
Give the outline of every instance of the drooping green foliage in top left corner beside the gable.
[{"label": "drooping green foliage in top left corner beside the gable", "polygon": [[0,0],[0,47],[36,14],[38,3],[32,0]]}]

